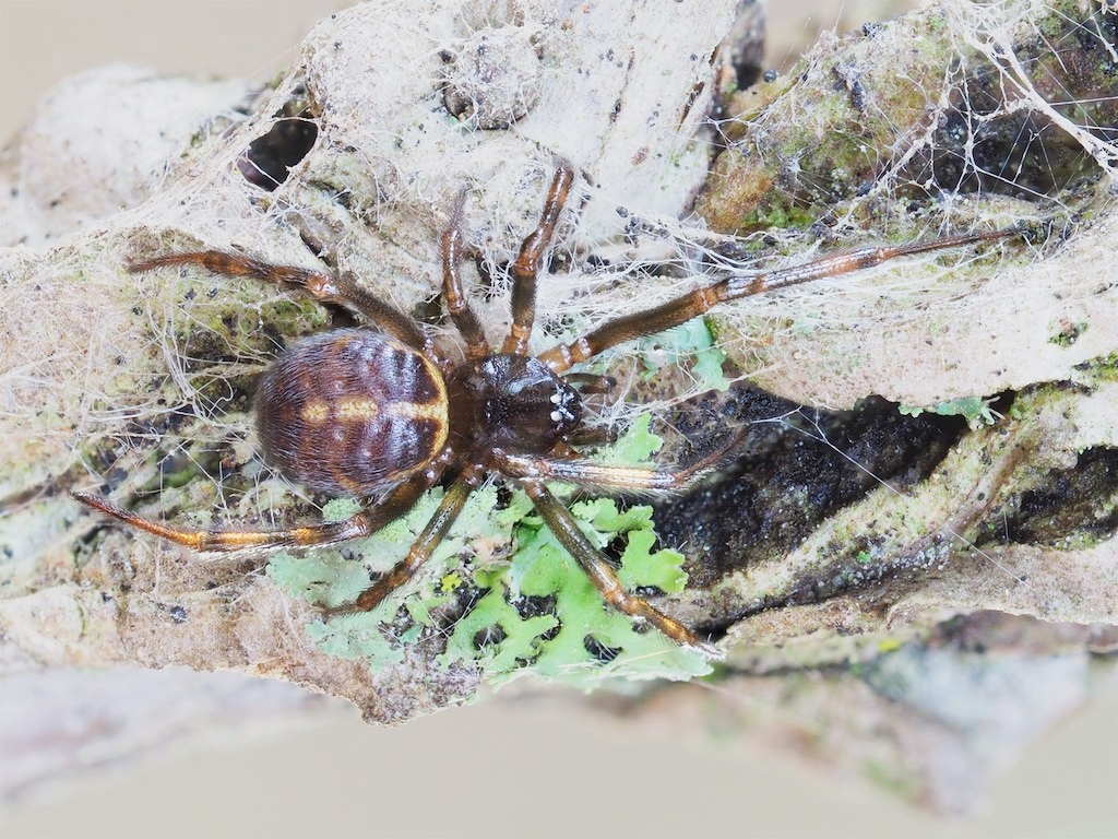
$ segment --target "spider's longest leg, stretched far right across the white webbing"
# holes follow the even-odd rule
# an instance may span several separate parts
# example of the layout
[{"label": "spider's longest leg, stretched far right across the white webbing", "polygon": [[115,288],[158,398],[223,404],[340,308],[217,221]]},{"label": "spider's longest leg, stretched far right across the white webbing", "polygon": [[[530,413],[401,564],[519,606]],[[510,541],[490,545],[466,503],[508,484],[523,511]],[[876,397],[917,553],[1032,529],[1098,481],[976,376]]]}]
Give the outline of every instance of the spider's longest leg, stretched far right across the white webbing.
[{"label": "spider's longest leg, stretched far right across the white webbing", "polygon": [[974,242],[986,242],[1012,236],[1016,230],[993,230],[988,233],[945,236],[909,245],[889,247],[862,247],[842,254],[832,254],[803,265],[792,265],[778,271],[757,274],[732,275],[671,300],[663,305],[632,312],[606,321],[570,343],[561,343],[541,352],[537,358],[556,373],[563,373],[572,366],[586,361],[599,352],[625,343],[635,338],[662,332],[705,314],[719,303],[726,303],[751,294],[760,294],[789,285],[808,283],[832,276],[849,274],[873,265],[879,265],[899,256],[940,251]]}]

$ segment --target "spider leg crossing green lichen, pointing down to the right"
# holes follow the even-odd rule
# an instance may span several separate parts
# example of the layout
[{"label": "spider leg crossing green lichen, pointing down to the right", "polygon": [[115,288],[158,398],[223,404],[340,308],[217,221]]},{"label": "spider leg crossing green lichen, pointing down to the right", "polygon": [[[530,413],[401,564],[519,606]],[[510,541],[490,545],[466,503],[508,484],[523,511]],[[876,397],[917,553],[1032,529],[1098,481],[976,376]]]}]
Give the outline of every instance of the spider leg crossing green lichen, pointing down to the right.
[{"label": "spider leg crossing green lichen, pointing down to the right", "polygon": [[579,564],[579,567],[594,583],[594,587],[601,592],[601,596],[607,603],[619,612],[647,621],[679,644],[691,647],[705,656],[721,656],[712,644],[700,641],[698,635],[679,621],[660,612],[643,597],[628,594],[622,587],[609,560],[586,538],[586,534],[578,527],[570,510],[548,491],[542,481],[523,478],[519,481],[551,532]]}]

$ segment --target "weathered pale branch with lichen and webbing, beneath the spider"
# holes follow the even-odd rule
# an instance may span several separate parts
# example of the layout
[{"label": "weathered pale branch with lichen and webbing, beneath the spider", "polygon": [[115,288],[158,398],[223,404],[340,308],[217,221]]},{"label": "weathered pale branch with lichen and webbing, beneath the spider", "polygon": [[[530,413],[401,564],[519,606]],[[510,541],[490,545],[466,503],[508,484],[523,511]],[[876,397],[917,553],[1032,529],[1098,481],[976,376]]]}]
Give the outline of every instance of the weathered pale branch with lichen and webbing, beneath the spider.
[{"label": "weathered pale branch with lichen and webbing, beneath the spider", "polygon": [[[951,0],[827,38],[794,73],[739,91],[722,64],[733,50],[718,51],[735,3],[604,6],[359,7],[318,27],[263,94],[191,86],[189,121],[181,104],[157,110],[182,102],[165,87],[181,83],[89,76],[69,102],[134,98],[151,109],[144,124],[164,126],[142,143],[135,160],[148,162],[126,189],[119,161],[49,152],[49,138],[76,140],[95,117],[76,104],[38,116],[2,172],[32,186],[0,206],[16,232],[0,252],[9,660],[233,669],[344,697],[378,722],[543,662],[579,684],[614,672],[606,664],[663,675],[568,643],[580,631],[570,615],[600,610],[568,587],[577,572],[532,588],[547,581],[529,579],[531,563],[560,560],[517,498],[466,517],[473,529],[421,591],[339,640],[296,595],[345,585],[354,567],[367,579],[348,558],[390,564],[386,545],[406,541],[407,522],[348,554],[214,562],[107,526],[67,494],[97,488],[198,527],[341,515],[264,466],[249,421],[253,383],[277,348],[338,312],[253,280],[135,275],[127,263],[200,246],[325,262],[443,340],[437,241],[464,191],[476,296],[499,334],[502,266],[560,158],[584,173],[581,206],[541,287],[551,334],[540,340],[719,272],[1023,223],[997,246],[741,301],[609,359],[625,404],[643,407],[603,421],[653,415],[651,431],[669,439],[661,458],[701,450],[727,417],[755,423],[722,478],[659,502],[654,519],[580,513],[604,545],[637,545],[627,562],[653,575],[637,585],[672,593],[665,609],[724,638],[728,673],[856,666],[881,677],[862,689],[893,689],[890,653],[954,654],[968,626],[1004,625],[994,612],[1051,624],[1022,633],[1044,656],[1082,662],[1114,647],[1118,218],[1106,125],[1118,101],[1086,93],[1098,87],[1092,58],[1114,50],[1114,16]],[[1054,63],[1042,49],[1052,44]],[[75,181],[85,191],[51,213],[50,185]],[[104,195],[115,197],[98,206]],[[697,195],[710,229],[679,220]],[[130,208],[108,209],[120,204]],[[632,447],[616,456],[647,458],[655,443],[631,425]],[[661,550],[676,547],[684,559]],[[556,603],[575,604],[566,635]],[[557,659],[560,648],[587,658]]]}]

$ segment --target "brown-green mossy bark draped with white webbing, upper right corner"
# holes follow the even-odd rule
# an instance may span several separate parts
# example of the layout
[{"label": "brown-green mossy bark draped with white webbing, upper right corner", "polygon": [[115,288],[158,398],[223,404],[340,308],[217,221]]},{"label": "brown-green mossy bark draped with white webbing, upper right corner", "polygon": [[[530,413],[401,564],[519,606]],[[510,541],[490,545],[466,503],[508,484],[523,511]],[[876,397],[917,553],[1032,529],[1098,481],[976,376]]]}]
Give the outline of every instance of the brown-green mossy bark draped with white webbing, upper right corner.
[{"label": "brown-green mossy bark draped with white webbing, upper right corner", "polygon": [[[1114,86],[1116,16],[1063,0],[1034,7],[1014,34],[1036,94],[1109,140],[1118,106],[1098,91]],[[890,200],[892,216],[944,192],[1054,198],[1089,211],[1098,163],[1040,110],[1007,107],[1005,76],[936,9],[864,37],[824,40],[779,91],[730,101],[740,111],[727,121],[729,142],[695,208],[724,233],[839,218],[869,224],[879,197],[903,199]],[[930,112],[934,103],[941,104]]]}]

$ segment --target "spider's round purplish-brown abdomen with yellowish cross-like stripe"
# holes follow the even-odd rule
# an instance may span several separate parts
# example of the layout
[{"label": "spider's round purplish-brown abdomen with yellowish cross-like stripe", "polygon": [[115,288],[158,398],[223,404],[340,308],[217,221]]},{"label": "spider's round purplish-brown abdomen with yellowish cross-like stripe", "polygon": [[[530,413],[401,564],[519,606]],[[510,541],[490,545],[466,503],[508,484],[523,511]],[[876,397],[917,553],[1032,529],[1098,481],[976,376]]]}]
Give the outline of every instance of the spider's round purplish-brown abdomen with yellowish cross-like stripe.
[{"label": "spider's round purplish-brown abdomen with yellowish cross-like stripe", "polygon": [[421,353],[368,329],[293,345],[264,374],[256,428],[269,463],[333,494],[371,494],[446,444],[446,384]]}]

